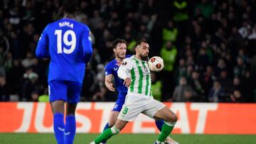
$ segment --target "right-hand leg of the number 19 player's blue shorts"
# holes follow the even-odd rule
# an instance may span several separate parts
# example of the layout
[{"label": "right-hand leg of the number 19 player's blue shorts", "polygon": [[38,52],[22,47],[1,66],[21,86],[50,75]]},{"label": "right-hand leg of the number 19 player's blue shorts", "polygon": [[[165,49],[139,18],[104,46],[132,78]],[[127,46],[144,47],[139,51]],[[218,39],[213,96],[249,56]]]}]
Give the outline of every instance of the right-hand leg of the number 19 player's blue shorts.
[{"label": "right-hand leg of the number 19 player's blue shorts", "polygon": [[82,84],[80,84],[79,82],[71,82],[71,81],[66,81],[66,84],[68,85],[67,102],[69,104],[78,104],[78,102],[80,101]]}]

